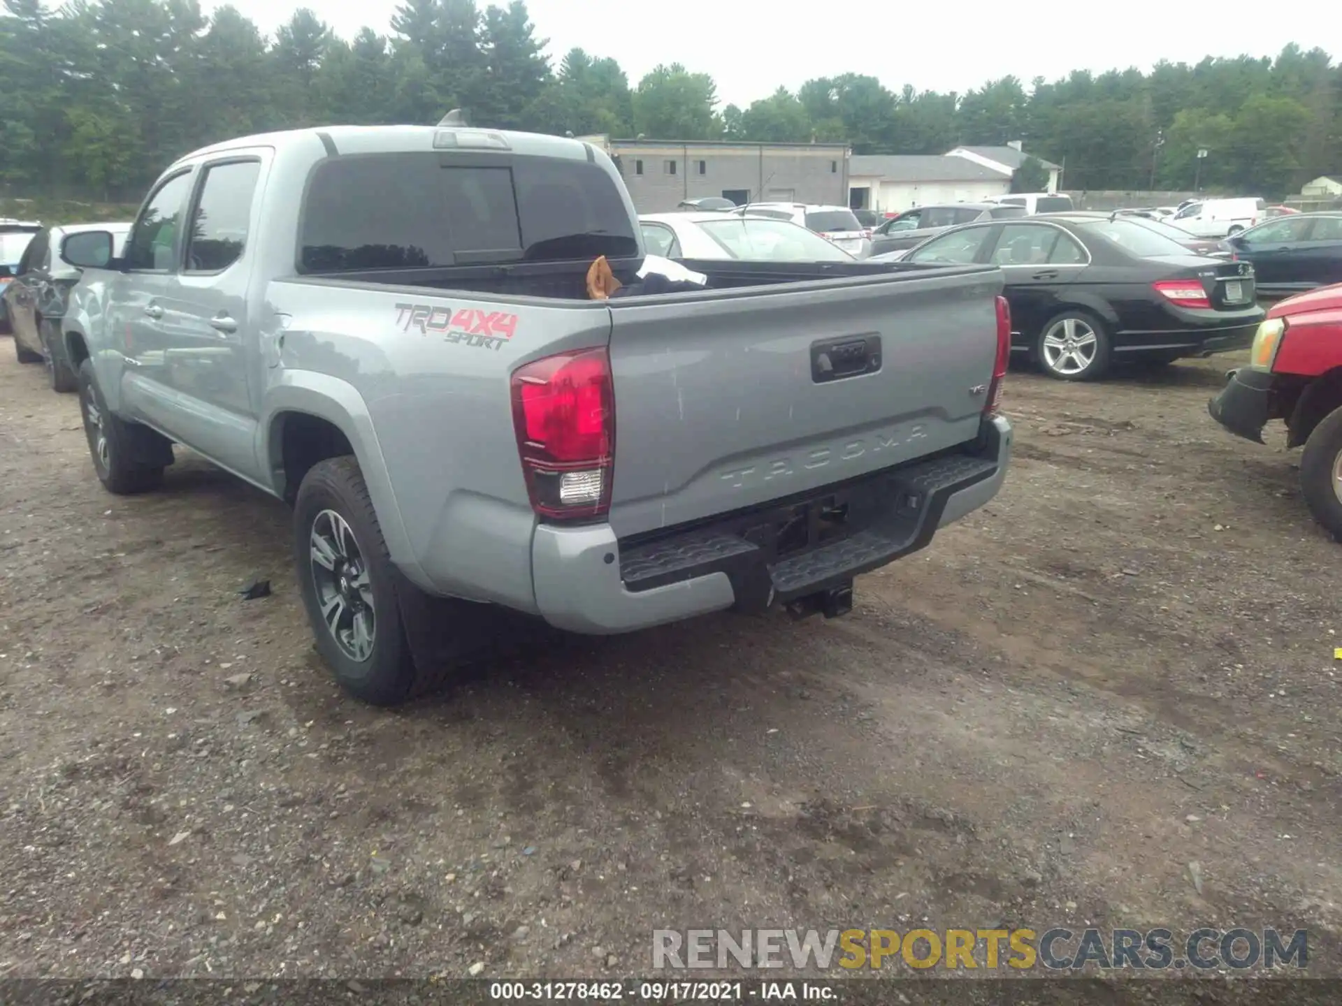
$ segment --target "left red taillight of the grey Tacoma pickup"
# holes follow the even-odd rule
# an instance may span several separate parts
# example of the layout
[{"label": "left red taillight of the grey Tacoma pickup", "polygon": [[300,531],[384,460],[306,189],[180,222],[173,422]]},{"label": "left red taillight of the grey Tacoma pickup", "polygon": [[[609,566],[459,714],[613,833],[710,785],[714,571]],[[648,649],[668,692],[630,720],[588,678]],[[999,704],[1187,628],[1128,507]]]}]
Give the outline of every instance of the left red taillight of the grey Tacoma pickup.
[{"label": "left red taillight of the grey Tacoma pickup", "polygon": [[560,353],[514,370],[513,427],[537,514],[605,515],[615,467],[615,386],[604,347]]}]

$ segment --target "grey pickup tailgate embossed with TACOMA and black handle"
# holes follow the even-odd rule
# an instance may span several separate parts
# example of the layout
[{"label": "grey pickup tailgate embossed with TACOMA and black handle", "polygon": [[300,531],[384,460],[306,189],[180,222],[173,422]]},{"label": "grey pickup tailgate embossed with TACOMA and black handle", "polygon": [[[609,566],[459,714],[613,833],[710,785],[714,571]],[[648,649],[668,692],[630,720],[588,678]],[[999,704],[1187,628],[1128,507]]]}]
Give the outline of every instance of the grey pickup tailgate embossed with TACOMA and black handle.
[{"label": "grey pickup tailgate embossed with TACOMA and black handle", "polygon": [[964,267],[611,300],[615,533],[974,440],[1001,287]]}]

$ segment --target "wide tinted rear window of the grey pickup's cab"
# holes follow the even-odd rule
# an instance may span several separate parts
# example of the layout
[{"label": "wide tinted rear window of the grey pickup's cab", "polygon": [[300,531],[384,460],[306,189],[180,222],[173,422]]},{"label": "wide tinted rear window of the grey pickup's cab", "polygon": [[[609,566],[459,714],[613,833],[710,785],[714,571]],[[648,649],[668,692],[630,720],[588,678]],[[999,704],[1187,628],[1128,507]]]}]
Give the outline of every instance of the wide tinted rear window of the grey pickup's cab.
[{"label": "wide tinted rear window of the grey pickup's cab", "polygon": [[302,220],[301,272],[627,258],[639,248],[601,168],[546,157],[331,158],[313,174]]}]

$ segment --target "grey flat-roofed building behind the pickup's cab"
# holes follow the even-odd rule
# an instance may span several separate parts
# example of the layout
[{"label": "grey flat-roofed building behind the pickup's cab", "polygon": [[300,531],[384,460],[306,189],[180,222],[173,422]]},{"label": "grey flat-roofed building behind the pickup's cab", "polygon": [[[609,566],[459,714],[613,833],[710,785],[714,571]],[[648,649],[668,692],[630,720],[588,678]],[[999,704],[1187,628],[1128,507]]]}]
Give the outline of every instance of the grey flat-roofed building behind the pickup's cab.
[{"label": "grey flat-roofed building behind the pickup's cab", "polygon": [[845,144],[737,144],[581,137],[615,158],[640,213],[686,199],[848,205]]}]

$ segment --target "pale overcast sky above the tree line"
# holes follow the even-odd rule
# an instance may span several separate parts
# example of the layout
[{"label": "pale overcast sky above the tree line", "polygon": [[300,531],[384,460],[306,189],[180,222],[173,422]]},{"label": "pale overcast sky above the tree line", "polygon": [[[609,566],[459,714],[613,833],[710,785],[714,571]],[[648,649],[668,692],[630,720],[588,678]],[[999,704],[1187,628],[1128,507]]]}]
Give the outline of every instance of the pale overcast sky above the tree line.
[{"label": "pale overcast sky above the tree line", "polygon": [[[207,11],[220,7],[203,0]],[[262,31],[303,5],[336,32],[364,25],[389,32],[399,0],[232,0]],[[480,8],[486,0],[479,0]],[[560,58],[574,46],[615,56],[629,83],[658,63],[711,74],[722,105],[742,107],[778,85],[796,90],[815,76],[870,74],[899,91],[966,91],[1015,74],[1028,86],[1072,70],[1103,71],[1161,59],[1275,56],[1283,46],[1322,46],[1342,58],[1342,19],[1327,28],[1329,4],[1278,0],[1271,16],[1235,5],[1186,8],[1151,0],[1001,4],[982,0],[527,0],[538,38]],[[796,12],[796,13],[790,13]],[[1190,13],[1192,12],[1192,13]],[[1189,20],[1189,15],[1193,20]],[[1304,25],[1311,25],[1306,31]],[[1310,42],[1306,42],[1310,39]]]}]

